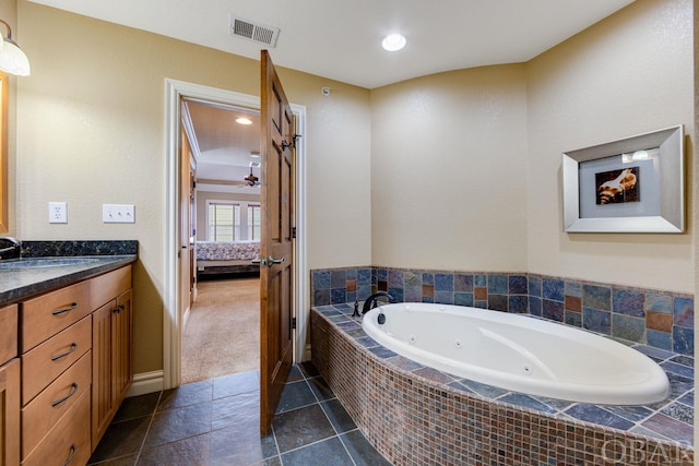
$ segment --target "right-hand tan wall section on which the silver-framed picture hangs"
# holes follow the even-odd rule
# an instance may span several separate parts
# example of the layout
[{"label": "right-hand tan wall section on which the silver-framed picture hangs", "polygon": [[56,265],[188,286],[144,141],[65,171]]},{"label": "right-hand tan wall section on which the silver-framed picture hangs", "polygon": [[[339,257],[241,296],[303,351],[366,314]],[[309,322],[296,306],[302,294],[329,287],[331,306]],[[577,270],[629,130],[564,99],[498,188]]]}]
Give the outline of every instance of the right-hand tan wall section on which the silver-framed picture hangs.
[{"label": "right-hand tan wall section on which the silver-framed picture hangs", "polygon": [[692,212],[691,0],[639,0],[526,65],[529,272],[694,292],[684,235],[565,234],[560,154],[684,124]]}]

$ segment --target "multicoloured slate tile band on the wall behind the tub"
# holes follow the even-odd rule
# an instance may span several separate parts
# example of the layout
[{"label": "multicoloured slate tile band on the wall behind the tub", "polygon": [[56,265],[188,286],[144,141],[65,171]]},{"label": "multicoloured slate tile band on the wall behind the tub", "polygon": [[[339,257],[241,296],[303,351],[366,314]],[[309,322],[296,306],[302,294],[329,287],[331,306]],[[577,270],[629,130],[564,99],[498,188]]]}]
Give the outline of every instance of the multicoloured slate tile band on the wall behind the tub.
[{"label": "multicoloured slate tile band on the wall behind the tub", "polygon": [[399,301],[530,313],[694,356],[694,296],[526,273],[348,267],[311,271],[311,306],[388,291]]}]

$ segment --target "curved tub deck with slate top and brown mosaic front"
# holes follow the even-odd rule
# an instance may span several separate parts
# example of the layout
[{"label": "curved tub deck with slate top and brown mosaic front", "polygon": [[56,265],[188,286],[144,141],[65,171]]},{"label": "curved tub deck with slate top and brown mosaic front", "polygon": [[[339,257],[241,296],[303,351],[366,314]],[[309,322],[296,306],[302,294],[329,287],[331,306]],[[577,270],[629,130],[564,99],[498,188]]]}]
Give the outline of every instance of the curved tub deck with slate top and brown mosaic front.
[{"label": "curved tub deck with slate top and brown mosaic front", "polygon": [[642,347],[664,360],[670,401],[636,407],[568,403],[423,367],[366,336],[351,313],[350,304],[312,309],[313,365],[393,464],[692,464],[692,358]]}]

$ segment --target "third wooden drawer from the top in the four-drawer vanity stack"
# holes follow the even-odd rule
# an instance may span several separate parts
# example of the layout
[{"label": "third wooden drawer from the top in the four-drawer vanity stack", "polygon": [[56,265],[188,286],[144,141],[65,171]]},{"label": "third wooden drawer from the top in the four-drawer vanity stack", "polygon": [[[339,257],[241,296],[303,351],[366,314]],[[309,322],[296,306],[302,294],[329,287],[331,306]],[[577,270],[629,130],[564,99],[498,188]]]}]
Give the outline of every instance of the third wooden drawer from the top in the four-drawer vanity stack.
[{"label": "third wooden drawer from the top in the four-drawer vanity stack", "polygon": [[92,351],[85,353],[73,366],[22,408],[22,452],[27,456],[51,427],[80,399],[92,383]]}]

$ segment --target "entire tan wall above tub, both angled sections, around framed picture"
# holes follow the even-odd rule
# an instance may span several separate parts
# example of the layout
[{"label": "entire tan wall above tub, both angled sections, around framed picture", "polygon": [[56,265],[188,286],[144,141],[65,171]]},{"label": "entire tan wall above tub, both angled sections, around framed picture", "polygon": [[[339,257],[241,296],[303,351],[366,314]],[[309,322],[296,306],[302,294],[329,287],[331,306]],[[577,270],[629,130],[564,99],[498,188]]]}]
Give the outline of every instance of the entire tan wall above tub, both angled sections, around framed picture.
[{"label": "entire tan wall above tub, both angled sections, around framed picture", "polygon": [[683,123],[691,154],[691,32],[690,0],[640,0],[526,64],[371,91],[372,263],[694,292],[690,222],[565,234],[560,190],[565,151]]}]

